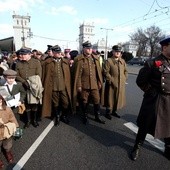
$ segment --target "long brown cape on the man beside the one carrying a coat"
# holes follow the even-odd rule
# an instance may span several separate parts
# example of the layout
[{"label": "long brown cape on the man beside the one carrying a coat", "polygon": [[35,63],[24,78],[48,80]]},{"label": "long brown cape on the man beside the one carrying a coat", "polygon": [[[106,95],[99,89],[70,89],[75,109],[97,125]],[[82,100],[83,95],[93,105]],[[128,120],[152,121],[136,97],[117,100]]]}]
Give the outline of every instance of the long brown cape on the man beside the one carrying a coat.
[{"label": "long brown cape on the man beside the one carrying a coat", "polygon": [[[69,97],[71,105],[71,75],[70,66],[67,59],[61,59],[61,67],[64,75],[64,82],[66,85],[66,92]],[[46,59],[42,64],[42,84],[44,87],[43,92],[43,105],[42,105],[42,117],[51,116],[52,106],[52,90],[53,90],[53,75],[55,69],[55,61],[53,58]]]}]

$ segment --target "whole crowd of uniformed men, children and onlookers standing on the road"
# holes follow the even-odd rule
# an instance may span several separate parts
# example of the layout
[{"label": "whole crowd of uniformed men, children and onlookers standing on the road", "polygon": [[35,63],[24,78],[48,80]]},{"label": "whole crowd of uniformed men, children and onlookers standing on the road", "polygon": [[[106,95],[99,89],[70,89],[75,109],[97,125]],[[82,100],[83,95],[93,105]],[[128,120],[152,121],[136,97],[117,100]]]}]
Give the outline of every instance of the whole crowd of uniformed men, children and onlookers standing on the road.
[{"label": "whole crowd of uniformed men, children and onlookers standing on the road", "polygon": [[[170,38],[160,44],[160,56],[148,60],[136,80],[144,91],[144,99],[137,119],[139,131],[130,153],[132,160],[138,158],[147,133],[165,140],[164,154],[170,159]],[[89,41],[82,44],[80,54],[70,49],[62,52],[59,45],[47,47],[44,54],[21,48],[1,61],[0,144],[9,163],[14,159],[13,133],[21,126],[16,114],[21,114],[23,128],[37,128],[41,119],[47,117],[56,127],[60,121],[69,124],[72,114],[79,114],[87,125],[90,104],[94,120],[105,124],[101,106],[106,108],[104,116],[111,120],[112,116],[120,118],[117,111],[126,105],[128,72],[121,46],[114,45],[106,60],[92,49]],[[0,168],[3,166],[0,159]]]}]

